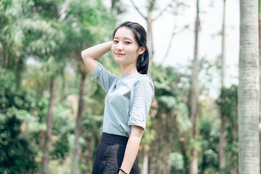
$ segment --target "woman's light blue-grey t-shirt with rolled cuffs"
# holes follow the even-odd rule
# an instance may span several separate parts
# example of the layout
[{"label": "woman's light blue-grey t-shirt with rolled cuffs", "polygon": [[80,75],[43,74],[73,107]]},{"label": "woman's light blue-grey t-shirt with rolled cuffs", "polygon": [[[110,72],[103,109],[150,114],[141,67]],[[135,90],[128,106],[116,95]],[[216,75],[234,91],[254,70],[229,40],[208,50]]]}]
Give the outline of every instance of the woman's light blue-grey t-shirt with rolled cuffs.
[{"label": "woman's light blue-grey t-shirt with rolled cuffs", "polygon": [[129,137],[131,125],[145,129],[154,97],[152,80],[146,74],[119,77],[98,63],[92,75],[107,93],[105,97],[103,132]]}]

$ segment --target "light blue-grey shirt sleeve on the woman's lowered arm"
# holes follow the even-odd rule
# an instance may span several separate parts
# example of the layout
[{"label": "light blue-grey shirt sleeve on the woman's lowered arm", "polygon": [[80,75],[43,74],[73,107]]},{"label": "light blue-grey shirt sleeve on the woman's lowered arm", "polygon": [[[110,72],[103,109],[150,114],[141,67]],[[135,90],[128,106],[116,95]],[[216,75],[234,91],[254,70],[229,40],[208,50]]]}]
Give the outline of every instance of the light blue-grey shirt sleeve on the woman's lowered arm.
[{"label": "light blue-grey shirt sleeve on the woman's lowered arm", "polygon": [[154,97],[154,87],[149,76],[139,77],[133,84],[130,96],[128,125],[137,125],[145,130],[149,109]]}]

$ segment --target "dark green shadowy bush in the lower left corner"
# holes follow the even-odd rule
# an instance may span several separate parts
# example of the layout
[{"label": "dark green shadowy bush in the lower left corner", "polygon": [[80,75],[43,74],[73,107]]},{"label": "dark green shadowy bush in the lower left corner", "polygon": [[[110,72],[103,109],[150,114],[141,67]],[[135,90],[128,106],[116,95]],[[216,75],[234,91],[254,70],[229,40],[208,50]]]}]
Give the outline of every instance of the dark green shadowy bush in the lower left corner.
[{"label": "dark green shadowy bush in the lower left corner", "polygon": [[0,172],[6,174],[34,173],[37,171],[34,161],[35,152],[28,139],[21,135],[22,120],[28,112],[8,109],[6,114],[1,114],[0,120]]}]

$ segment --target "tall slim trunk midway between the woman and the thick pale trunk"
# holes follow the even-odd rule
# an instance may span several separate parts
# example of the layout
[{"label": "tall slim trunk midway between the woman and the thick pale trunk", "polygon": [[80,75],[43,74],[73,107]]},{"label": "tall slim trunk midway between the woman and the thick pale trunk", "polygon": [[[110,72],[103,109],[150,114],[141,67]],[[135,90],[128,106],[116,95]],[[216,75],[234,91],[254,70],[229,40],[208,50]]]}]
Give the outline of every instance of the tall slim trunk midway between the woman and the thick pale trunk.
[{"label": "tall slim trunk midway between the woman and the thick pale trunk", "polygon": [[[198,32],[199,32],[199,0],[197,0],[197,19],[195,23],[195,49],[194,49],[194,64],[193,64],[193,78],[191,85],[191,109],[190,109],[190,119],[192,122],[191,130],[189,131],[190,138],[197,141],[198,137],[198,73],[199,73],[199,63],[198,63]],[[192,147],[192,160],[189,161],[189,174],[198,173],[198,151],[193,145]]]}]

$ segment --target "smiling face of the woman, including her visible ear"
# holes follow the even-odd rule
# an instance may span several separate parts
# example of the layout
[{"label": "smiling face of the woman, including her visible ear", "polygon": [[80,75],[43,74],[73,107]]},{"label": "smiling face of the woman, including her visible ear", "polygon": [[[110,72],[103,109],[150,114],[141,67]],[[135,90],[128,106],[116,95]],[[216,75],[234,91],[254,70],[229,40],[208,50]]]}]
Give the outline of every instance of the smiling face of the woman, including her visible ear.
[{"label": "smiling face of the woman, including her visible ear", "polygon": [[111,51],[115,62],[120,64],[135,64],[137,58],[144,51],[143,47],[139,47],[133,33],[126,27],[120,27],[113,38],[113,44],[111,45]]}]

